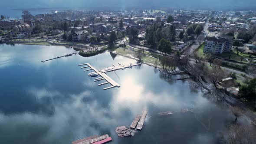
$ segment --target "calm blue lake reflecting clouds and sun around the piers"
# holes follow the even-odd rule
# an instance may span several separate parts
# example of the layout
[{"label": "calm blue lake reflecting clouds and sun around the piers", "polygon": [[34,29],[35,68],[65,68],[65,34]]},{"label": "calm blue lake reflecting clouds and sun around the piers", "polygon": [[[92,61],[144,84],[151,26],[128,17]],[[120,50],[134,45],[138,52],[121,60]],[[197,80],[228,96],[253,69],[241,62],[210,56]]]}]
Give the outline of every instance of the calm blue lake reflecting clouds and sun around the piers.
[{"label": "calm blue lake reflecting clouds and sun around the piers", "polygon": [[[73,55],[56,46],[0,45],[0,143],[71,144],[78,137],[109,134],[109,144],[216,144],[232,120],[226,107],[203,95],[188,81],[168,82],[148,65],[107,73],[121,85],[103,91],[78,67],[97,69],[129,65],[135,60],[105,52],[93,57]],[[181,113],[181,108],[194,113]],[[148,109],[142,131],[117,137],[117,126],[130,126]],[[177,111],[161,117],[159,112]]]}]

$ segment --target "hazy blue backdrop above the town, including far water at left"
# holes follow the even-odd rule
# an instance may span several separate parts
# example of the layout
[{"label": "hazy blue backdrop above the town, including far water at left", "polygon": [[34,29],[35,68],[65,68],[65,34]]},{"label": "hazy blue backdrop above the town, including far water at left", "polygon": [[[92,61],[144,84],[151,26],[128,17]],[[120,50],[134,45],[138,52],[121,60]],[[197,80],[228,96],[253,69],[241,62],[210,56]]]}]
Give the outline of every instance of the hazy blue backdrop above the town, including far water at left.
[{"label": "hazy blue backdrop above the town, including far water at left", "polygon": [[[17,18],[22,10],[32,14],[55,10],[127,10],[140,9],[203,9],[203,10],[255,10],[254,0],[3,0],[0,14]],[[16,10],[15,10],[16,9]],[[19,10],[17,10],[19,9]]]}]

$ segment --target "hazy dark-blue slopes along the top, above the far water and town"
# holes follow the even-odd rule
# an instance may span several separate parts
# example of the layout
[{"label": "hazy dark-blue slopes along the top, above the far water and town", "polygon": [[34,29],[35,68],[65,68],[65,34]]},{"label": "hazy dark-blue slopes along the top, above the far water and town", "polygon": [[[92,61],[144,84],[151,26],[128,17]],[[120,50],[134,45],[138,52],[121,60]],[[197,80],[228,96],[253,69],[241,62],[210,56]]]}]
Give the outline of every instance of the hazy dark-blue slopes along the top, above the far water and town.
[{"label": "hazy dark-blue slopes along the top, above the far water and town", "polygon": [[0,8],[88,8],[88,7],[171,7],[171,8],[203,8],[203,9],[237,9],[256,7],[255,0],[3,0]]}]

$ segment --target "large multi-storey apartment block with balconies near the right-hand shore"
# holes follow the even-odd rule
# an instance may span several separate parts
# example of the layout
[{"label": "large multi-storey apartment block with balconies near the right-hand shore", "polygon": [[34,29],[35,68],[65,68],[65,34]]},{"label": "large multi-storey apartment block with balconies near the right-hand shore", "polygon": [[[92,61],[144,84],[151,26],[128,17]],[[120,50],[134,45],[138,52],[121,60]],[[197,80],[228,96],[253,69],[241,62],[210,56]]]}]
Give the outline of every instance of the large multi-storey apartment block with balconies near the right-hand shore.
[{"label": "large multi-storey apartment block with balconies near the right-hand shore", "polygon": [[204,53],[221,54],[231,52],[233,36],[207,36],[203,48]]}]

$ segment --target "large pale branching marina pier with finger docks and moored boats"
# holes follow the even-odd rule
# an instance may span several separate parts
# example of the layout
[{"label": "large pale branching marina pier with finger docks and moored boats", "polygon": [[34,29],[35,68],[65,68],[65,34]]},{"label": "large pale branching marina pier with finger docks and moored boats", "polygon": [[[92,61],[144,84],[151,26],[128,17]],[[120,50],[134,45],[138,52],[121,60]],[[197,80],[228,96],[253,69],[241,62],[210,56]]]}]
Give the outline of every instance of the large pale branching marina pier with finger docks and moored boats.
[{"label": "large pale branching marina pier with finger docks and moored boats", "polygon": [[[81,69],[89,68],[89,69],[85,69],[84,71],[93,70],[94,72],[92,72],[92,73],[97,73],[98,75],[100,75],[102,77],[101,79],[94,80],[94,82],[101,81],[101,80],[105,79],[107,82],[103,82],[101,84],[98,84],[98,86],[105,85],[105,84],[108,84],[108,83],[111,84],[112,86],[107,87],[107,88],[103,88],[103,90],[106,90],[106,89],[109,89],[109,88],[120,87],[120,85],[117,82],[115,82],[113,79],[111,79],[108,75],[106,75],[105,73],[116,71],[116,70],[119,70],[119,69],[131,68],[131,67],[136,66],[136,65],[141,65],[141,63],[135,64],[135,65],[129,65],[129,66],[125,66],[125,65],[120,64],[120,63],[118,63],[118,64],[119,64],[118,66],[115,66],[114,64],[112,64],[113,67],[109,67],[109,68],[106,68],[106,69],[100,69],[100,70],[95,69],[89,63],[84,63],[84,64],[80,64],[80,65],[77,65],[77,66],[87,65],[87,66],[81,67]],[[91,76],[91,74],[88,74],[88,76]]]}]

